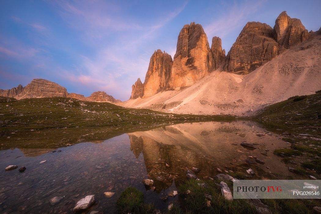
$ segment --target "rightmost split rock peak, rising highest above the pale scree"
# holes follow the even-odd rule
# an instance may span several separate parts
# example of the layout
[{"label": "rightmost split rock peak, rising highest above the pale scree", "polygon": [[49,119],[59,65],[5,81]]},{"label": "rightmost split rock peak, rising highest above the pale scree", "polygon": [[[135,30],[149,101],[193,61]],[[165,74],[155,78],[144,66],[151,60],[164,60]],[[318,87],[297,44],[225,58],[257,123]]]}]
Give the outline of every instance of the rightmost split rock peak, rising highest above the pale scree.
[{"label": "rightmost split rock peak, rising highest above the pale scree", "polygon": [[290,18],[283,11],[275,20],[273,36],[281,46],[290,48],[307,40],[309,34],[299,19]]}]

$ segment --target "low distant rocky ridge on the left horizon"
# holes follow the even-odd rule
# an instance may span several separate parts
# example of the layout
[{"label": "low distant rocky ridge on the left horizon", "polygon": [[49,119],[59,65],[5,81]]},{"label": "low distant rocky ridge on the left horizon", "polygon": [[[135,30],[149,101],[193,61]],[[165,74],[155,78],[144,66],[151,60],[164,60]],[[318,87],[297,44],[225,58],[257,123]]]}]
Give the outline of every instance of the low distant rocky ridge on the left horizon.
[{"label": "low distant rocky ridge on the left horizon", "polygon": [[62,87],[55,82],[44,79],[33,79],[25,87],[19,85],[18,87],[12,89],[0,89],[0,96],[12,97],[16,99],[69,97],[84,101],[121,102],[121,100],[113,98],[112,96],[106,94],[104,91],[94,92],[90,97],[85,97],[81,94],[68,93],[65,87]]}]

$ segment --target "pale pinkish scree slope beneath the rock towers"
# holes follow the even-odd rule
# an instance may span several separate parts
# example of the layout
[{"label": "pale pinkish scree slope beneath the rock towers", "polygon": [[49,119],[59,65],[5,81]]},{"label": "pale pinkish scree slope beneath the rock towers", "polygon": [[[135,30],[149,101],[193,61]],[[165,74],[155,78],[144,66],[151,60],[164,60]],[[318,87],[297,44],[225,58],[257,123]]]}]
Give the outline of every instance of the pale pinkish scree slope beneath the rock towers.
[{"label": "pale pinkish scree slope beneath the rock towers", "polygon": [[247,75],[212,72],[182,90],[163,91],[117,105],[176,114],[252,115],[289,97],[314,94],[321,89],[320,71],[321,34],[311,32],[308,40],[285,49]]}]

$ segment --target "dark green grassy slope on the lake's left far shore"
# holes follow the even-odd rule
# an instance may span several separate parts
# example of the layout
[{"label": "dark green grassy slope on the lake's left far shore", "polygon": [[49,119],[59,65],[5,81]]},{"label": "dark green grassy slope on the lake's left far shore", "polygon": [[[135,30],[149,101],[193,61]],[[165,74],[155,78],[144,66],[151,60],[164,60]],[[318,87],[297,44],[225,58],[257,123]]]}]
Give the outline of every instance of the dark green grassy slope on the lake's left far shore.
[{"label": "dark green grassy slope on the lake's left far shore", "polygon": [[175,115],[71,98],[0,97],[0,149],[56,148],[169,123],[224,118],[231,117]]}]

